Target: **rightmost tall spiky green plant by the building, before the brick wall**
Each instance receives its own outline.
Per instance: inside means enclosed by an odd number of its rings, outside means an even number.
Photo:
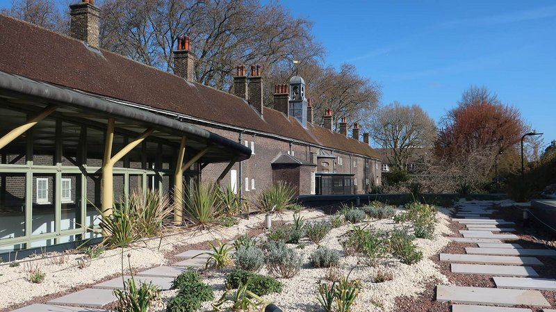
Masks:
[[[265,188],[256,194],[256,206],[259,210],[270,212],[285,211],[293,204],[295,188],[286,182],[279,181],[270,188]]]

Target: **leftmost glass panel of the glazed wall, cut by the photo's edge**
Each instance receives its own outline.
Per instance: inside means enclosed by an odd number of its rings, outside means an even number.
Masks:
[[[0,173],[0,239],[25,236],[25,189],[24,174]]]

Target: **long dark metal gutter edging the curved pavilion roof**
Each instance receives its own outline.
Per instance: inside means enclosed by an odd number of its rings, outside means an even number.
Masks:
[[[23,76],[8,74],[0,71],[0,90],[16,92],[23,95],[40,97],[49,101],[55,101],[62,106],[72,106],[96,111],[112,117],[123,117],[126,119],[155,124],[182,135],[186,134],[190,139],[197,142],[206,142],[207,145],[220,145],[229,149],[232,154],[240,156],[240,160],[250,158],[251,149],[238,144],[232,140],[219,136],[193,124],[181,122],[160,114],[152,113],[142,108],[130,105],[118,105],[117,101],[101,99],[79,90],[63,88],[50,83],[27,79]]]

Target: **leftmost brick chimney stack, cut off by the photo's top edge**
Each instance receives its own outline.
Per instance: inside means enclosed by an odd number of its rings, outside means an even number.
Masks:
[[[100,8],[95,0],[83,0],[70,6],[70,35],[83,40],[93,49],[99,49],[99,15]]]

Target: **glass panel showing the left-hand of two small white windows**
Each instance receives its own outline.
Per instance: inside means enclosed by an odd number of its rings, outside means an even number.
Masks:
[[[33,210],[31,217],[32,235],[51,233],[54,229],[56,194],[55,174],[33,174]],[[36,247],[32,245],[31,247]]]

